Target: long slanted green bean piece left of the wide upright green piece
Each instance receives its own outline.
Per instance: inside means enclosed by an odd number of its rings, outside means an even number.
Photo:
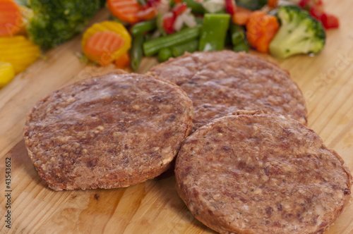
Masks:
[[[192,39],[196,39],[200,36],[200,26],[186,28],[180,32],[152,39],[148,42],[143,43],[143,53],[145,56],[151,56],[157,54],[160,49],[167,47],[174,47],[179,44],[184,44]]]

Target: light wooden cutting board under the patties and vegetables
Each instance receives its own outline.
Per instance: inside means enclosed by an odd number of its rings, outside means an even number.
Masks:
[[[321,54],[277,62],[289,70],[304,93],[309,128],[353,171],[353,1],[326,0],[325,4],[340,17],[341,25],[328,31]],[[93,21],[107,17],[103,10]],[[80,51],[77,37],[49,51],[46,59],[0,90],[0,233],[214,233],[193,218],[179,199],[172,171],[128,188],[64,192],[50,190],[37,175],[22,136],[28,111],[63,85],[114,69],[84,66],[76,56]],[[138,72],[156,63],[145,58]],[[5,226],[6,158],[11,158],[11,229]],[[326,233],[353,233],[353,204]]]

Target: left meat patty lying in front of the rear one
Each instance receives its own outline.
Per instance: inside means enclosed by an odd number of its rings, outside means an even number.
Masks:
[[[177,85],[109,73],[42,99],[25,123],[25,144],[54,190],[126,187],[167,170],[192,116]]]

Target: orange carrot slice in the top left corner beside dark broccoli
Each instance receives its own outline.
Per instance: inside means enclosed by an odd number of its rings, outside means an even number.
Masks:
[[[20,31],[22,16],[13,0],[0,0],[0,37],[13,36]]]

